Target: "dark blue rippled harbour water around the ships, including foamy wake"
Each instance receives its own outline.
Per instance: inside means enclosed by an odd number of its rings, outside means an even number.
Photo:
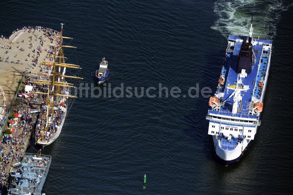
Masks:
[[[3,1],[0,34],[47,26],[73,37],[83,83],[105,56],[112,89],[177,86],[179,98],[78,98],[59,138],[46,147],[51,194],[292,193],[292,1]],[[227,35],[273,40],[258,136],[240,162],[214,160],[205,120],[208,99],[183,98],[190,87],[216,90]],[[69,50],[65,54],[70,55]],[[75,54],[74,54],[75,55]],[[103,90],[103,88],[102,88]],[[158,96],[158,90],[151,94]],[[34,148],[29,149],[35,152]],[[143,188],[143,176],[147,175]]]

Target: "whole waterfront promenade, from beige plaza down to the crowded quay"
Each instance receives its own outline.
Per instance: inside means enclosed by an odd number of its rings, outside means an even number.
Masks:
[[[26,76],[34,77],[39,76],[36,73],[40,71],[47,72],[49,67],[39,63],[53,60],[53,58],[46,57],[51,56],[54,51],[48,45],[55,45],[59,40],[56,37],[48,37],[48,30],[47,28],[24,28],[24,30],[16,31],[9,39],[1,38],[0,35],[0,85],[4,90],[7,104],[13,100],[18,80],[23,77],[24,72],[26,72]],[[52,35],[56,35],[54,30],[52,30]],[[42,78],[44,77],[42,76]],[[31,82],[30,84],[32,85]],[[6,182],[12,166],[20,162],[28,147],[30,135],[33,133],[31,126],[37,117],[36,114],[29,114],[28,111],[39,107],[41,101],[42,98],[36,100],[30,98],[29,101],[26,100],[11,110],[11,112],[22,114],[22,117],[16,119],[17,124],[13,127],[14,132],[10,135],[11,140],[1,141],[3,161],[0,163],[0,186],[8,187]],[[34,143],[31,144],[32,147],[35,147]]]

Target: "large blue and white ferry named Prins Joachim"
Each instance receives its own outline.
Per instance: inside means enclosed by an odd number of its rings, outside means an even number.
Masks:
[[[208,134],[224,165],[239,161],[260,126],[272,40],[253,37],[252,19],[249,37],[229,36],[217,91],[209,99]]]

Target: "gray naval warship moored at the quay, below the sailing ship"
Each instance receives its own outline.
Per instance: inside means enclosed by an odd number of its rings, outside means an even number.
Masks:
[[[11,171],[8,195],[44,195],[42,188],[49,172],[51,156],[25,153],[16,170]]]

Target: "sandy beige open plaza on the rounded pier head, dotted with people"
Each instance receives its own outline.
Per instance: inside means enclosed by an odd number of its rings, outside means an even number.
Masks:
[[[0,85],[5,92],[7,102],[11,102],[13,99],[15,87],[18,85],[18,79],[22,78],[23,72],[38,73],[40,71],[39,65],[32,65],[33,60],[37,57],[38,46],[42,49],[40,57],[38,57],[39,63],[44,61],[47,55],[46,51],[50,50],[48,45],[56,43],[55,39],[52,42],[49,40],[46,31],[46,28],[42,28],[42,30],[33,29],[29,32],[27,28],[16,31],[9,40],[0,37],[0,57],[2,60],[0,60]],[[32,38],[30,39],[30,37]],[[21,51],[21,48],[24,51]],[[33,52],[34,50],[35,52]],[[5,61],[7,57],[9,57],[8,62]]]

